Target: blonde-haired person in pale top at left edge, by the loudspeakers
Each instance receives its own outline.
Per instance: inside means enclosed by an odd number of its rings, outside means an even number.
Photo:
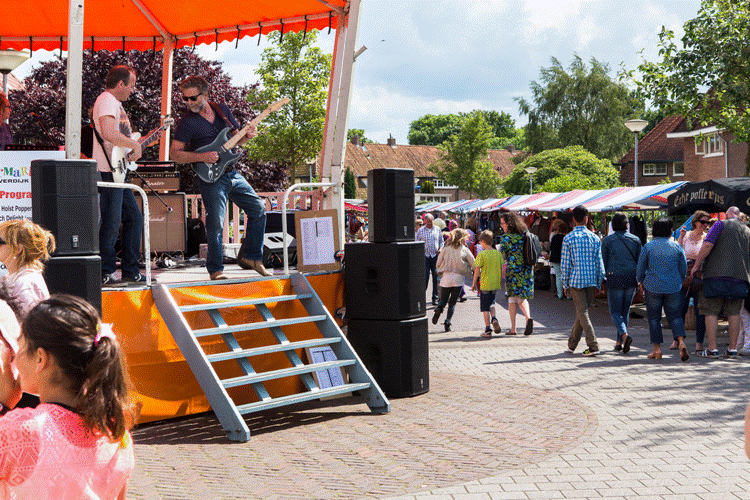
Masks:
[[[42,271],[43,261],[55,250],[55,237],[26,219],[0,222],[0,261],[8,274],[8,292],[17,301],[19,320],[38,302],[49,297]]]

